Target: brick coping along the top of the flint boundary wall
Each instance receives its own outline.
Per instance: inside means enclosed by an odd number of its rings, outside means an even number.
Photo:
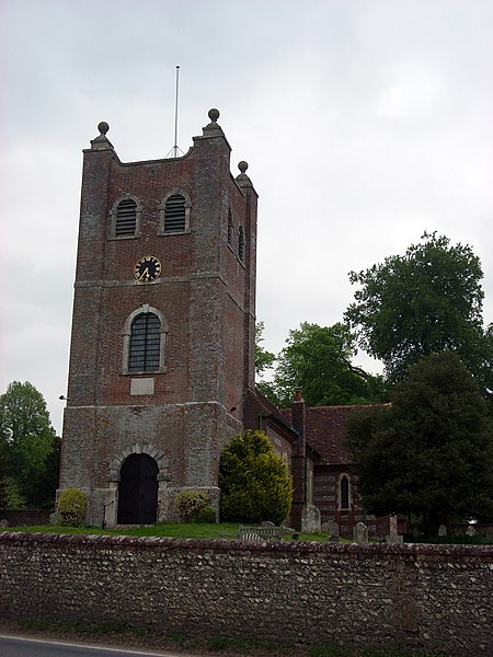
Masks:
[[[493,563],[493,545],[433,543],[322,543],[317,541],[239,541],[229,539],[171,539],[161,537],[128,537],[108,534],[56,534],[41,532],[0,532],[0,543],[43,544],[50,548],[84,546],[93,550],[183,550],[213,553],[262,554],[328,554],[356,558],[358,556],[398,555],[401,558],[426,557],[428,561],[463,561],[480,557]]]

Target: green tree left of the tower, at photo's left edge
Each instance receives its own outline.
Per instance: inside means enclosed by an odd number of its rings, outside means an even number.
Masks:
[[[0,436],[10,498],[31,507],[53,506],[59,440],[43,395],[28,381],[13,381],[0,395]]]

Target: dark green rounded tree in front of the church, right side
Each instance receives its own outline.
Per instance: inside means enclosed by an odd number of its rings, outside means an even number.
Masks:
[[[486,403],[456,354],[412,366],[391,405],[349,418],[347,442],[368,511],[414,514],[428,534],[456,518],[493,519]]]

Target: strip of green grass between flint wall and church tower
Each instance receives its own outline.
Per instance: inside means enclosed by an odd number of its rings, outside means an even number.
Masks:
[[[171,539],[234,539],[238,535],[238,522],[163,522],[152,527],[134,527],[121,529],[101,529],[99,527],[60,527],[42,525],[34,527],[9,527],[8,531],[68,533],[68,534],[104,534],[128,537],[162,537]],[[326,541],[326,534],[298,533],[300,541]],[[288,534],[284,540],[291,541]]]

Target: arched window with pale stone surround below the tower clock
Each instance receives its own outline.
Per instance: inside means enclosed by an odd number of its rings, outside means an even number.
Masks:
[[[144,303],[127,318],[123,330],[123,372],[165,372],[168,324],[162,313]]]

